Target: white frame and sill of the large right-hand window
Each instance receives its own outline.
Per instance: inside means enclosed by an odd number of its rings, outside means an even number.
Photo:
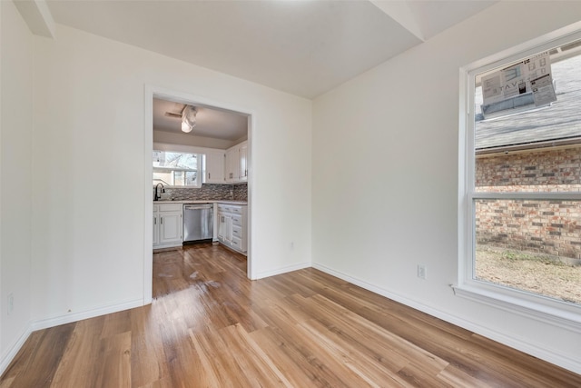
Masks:
[[[581,333],[581,306],[547,296],[527,293],[507,286],[475,279],[475,200],[477,199],[559,199],[579,200],[581,193],[478,193],[475,190],[474,131],[475,77],[515,63],[527,56],[581,39],[581,23],[569,25],[523,45],[460,68],[458,131],[458,284],[452,287],[459,297],[485,303],[528,318],[556,324]]]

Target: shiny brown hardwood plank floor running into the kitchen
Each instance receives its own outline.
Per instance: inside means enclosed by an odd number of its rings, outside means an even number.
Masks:
[[[315,269],[251,282],[212,244],[153,260],[151,305],[32,333],[0,387],[581,386]]]

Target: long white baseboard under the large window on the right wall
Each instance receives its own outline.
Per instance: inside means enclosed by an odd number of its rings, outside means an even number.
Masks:
[[[506,334],[498,333],[497,331],[490,330],[487,327],[479,325],[478,323],[473,323],[463,318],[459,318],[456,315],[450,315],[448,313],[434,309],[426,304],[419,303],[418,301],[399,295],[398,293],[393,293],[377,285],[369,284],[363,280],[357,279],[348,274],[343,274],[338,271],[335,271],[332,268],[327,267],[325,265],[313,263],[312,267],[326,274],[338,277],[351,284],[359,285],[359,287],[369,290],[372,293],[378,293],[379,295],[385,296],[386,298],[389,298],[393,301],[405,304],[411,308],[419,310],[422,313],[428,313],[429,315],[435,316],[438,319],[441,319],[448,323],[455,324],[472,333],[478,333],[493,341],[497,341],[498,343],[503,343],[507,346],[510,346],[511,348],[517,349],[520,352],[530,354],[534,357],[540,358],[541,360],[545,360],[547,361],[547,363],[554,363],[571,372],[581,374],[581,364],[579,364],[577,360],[566,357],[563,354],[558,354],[551,350],[539,347],[536,344],[527,343],[525,341],[518,340],[517,338],[507,336]]]

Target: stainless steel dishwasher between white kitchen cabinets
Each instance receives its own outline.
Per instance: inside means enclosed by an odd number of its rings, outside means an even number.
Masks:
[[[212,240],[213,232],[213,204],[183,205],[183,243]]]

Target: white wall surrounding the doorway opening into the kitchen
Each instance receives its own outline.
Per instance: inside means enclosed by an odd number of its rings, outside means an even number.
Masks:
[[[309,100],[62,25],[56,37],[35,38],[35,322],[143,303],[145,85],[253,114],[255,272],[310,265]]]

